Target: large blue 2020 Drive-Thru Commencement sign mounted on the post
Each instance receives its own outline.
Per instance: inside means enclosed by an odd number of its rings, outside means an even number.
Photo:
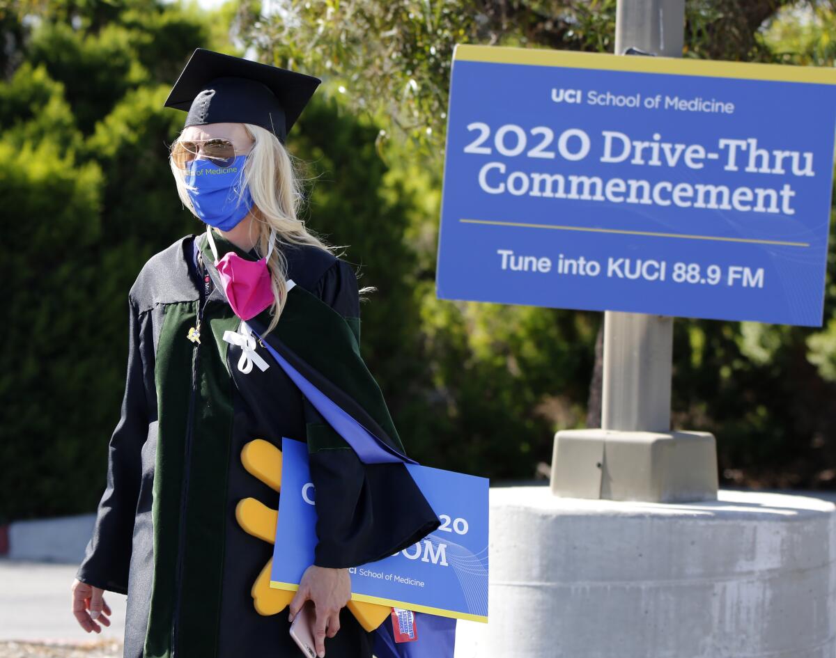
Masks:
[[[836,71],[458,45],[444,299],[820,326]]]

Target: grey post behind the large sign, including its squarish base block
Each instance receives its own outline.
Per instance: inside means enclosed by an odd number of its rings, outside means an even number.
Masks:
[[[681,57],[685,0],[619,0],[615,52]],[[601,428],[558,432],[552,491],[675,502],[717,497],[710,433],[670,432],[673,318],[604,313]]]

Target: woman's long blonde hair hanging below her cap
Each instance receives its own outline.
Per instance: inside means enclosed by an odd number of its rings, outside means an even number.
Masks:
[[[253,124],[242,125],[254,140],[254,144],[244,161],[245,185],[242,185],[239,190],[238,200],[241,201],[244,189],[248,187],[254,204],[251,226],[257,227],[255,248],[259,256],[268,253],[271,229],[276,230],[276,239],[279,244],[314,245],[329,253],[342,249],[344,245],[328,245],[320,240],[308,231],[303,220],[298,219],[303,202],[304,179],[300,175],[301,162],[291,155],[278,137],[268,129]],[[177,136],[174,144],[180,137],[181,135]],[[169,164],[176,181],[177,194],[180,195],[186,208],[195,213],[188,194],[185,171],[178,168],[171,158],[169,158]],[[270,306],[273,317],[265,335],[272,332],[278,324],[287,300],[288,261],[281,249],[273,249],[273,255],[268,260],[268,267],[273,282],[274,301]]]

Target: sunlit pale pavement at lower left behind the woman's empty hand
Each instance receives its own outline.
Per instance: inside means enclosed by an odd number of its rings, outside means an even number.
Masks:
[[[0,658],[110,658],[121,655],[125,633],[125,596],[107,592],[110,628],[85,633],[70,611],[75,564],[38,564],[0,559]],[[28,643],[89,645],[79,651]],[[92,644],[92,645],[91,645]]]

